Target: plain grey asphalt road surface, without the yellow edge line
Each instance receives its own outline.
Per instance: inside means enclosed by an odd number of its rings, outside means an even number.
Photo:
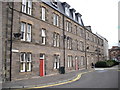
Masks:
[[[49,88],[118,88],[117,70],[96,70],[72,83]]]

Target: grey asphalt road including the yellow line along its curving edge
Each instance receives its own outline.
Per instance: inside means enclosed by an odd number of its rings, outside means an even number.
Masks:
[[[80,73],[78,74],[77,78],[73,79],[72,81],[63,82],[64,84],[58,83],[48,86],[37,86],[33,88],[23,88],[17,90],[40,90],[40,88],[109,88],[109,90],[111,90],[111,88],[119,87],[118,73],[120,74],[120,70],[117,68],[95,69],[90,72]],[[13,90],[13,88],[9,90]]]

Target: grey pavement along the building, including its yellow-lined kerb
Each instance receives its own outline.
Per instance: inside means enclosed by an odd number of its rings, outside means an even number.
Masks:
[[[81,77],[82,74],[94,71],[94,70],[104,70],[104,69],[116,69],[118,66],[111,68],[92,68],[92,69],[83,69],[78,71],[71,71],[65,74],[56,74],[52,76],[45,77],[36,77],[31,79],[16,80],[12,82],[3,83],[3,88],[33,88],[33,87],[47,87],[51,85],[60,85],[70,83]],[[80,75],[81,74],[81,75]]]

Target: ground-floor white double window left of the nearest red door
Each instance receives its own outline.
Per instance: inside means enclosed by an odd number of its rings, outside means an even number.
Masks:
[[[20,72],[31,71],[31,53],[20,54]]]

